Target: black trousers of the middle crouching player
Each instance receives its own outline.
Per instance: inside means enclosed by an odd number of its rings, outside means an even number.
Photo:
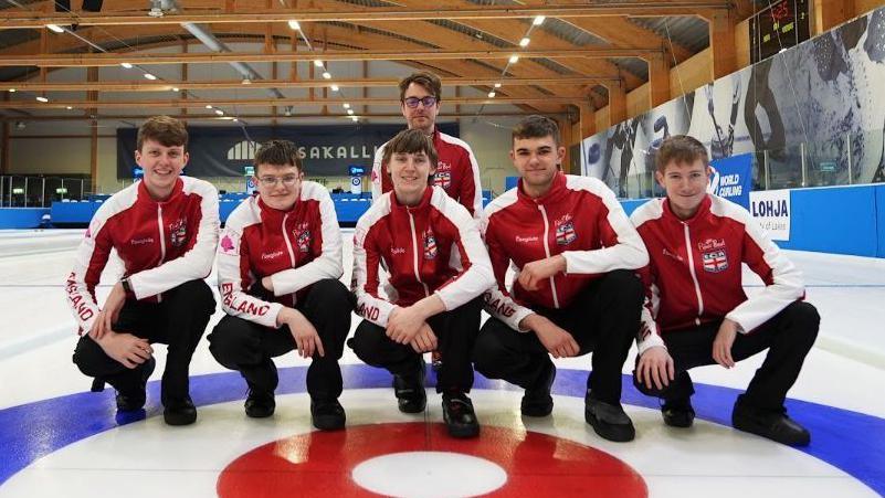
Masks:
[[[428,320],[436,335],[436,349],[445,359],[436,375],[436,392],[466,393],[473,388],[471,350],[480,331],[482,304],[482,298],[477,297]],[[394,375],[414,375],[421,365],[421,354],[409,345],[394,342],[384,332],[383,327],[362,320],[348,345],[367,364],[386,368]]]

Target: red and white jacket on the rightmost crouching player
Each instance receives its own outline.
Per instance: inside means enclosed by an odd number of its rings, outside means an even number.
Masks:
[[[651,261],[640,273],[646,287],[640,354],[663,346],[661,333],[716,321],[738,322],[747,333],[804,296],[802,275],[771,242],[750,213],[708,194],[697,213],[679,220],[666,199],[633,212]],[[749,299],[741,263],[766,287]]]

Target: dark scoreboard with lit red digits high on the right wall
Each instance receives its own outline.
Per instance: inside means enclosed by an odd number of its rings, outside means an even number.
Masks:
[[[750,19],[750,60],[768,59],[809,39],[809,0],[779,0]]]

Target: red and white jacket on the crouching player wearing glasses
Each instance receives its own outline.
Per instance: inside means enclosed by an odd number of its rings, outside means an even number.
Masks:
[[[228,315],[276,328],[283,307],[295,307],[307,288],[340,278],[341,233],[325,187],[302,183],[288,211],[268,208],[260,197],[245,199],[224,224],[218,246],[221,307]],[[270,276],[274,303],[250,296],[252,284]]]

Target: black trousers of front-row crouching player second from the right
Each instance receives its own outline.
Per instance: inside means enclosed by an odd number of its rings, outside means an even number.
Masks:
[[[534,308],[567,330],[580,347],[592,351],[592,372],[587,388],[604,402],[621,400],[621,369],[636,337],[642,310],[642,283],[633,272],[613,271],[591,282],[567,308]],[[504,379],[524,389],[540,386],[552,363],[534,332],[521,333],[491,318],[473,351],[476,371],[488,379]]]

